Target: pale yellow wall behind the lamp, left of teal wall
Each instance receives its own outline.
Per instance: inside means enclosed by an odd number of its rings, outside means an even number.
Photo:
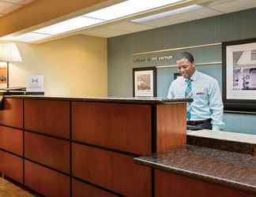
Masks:
[[[46,95],[107,95],[107,39],[74,35],[17,47],[23,61],[10,64],[10,87],[24,86],[26,76],[43,75]]]

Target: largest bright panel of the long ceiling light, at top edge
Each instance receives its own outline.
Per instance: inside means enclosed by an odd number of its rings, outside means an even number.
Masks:
[[[113,20],[182,1],[183,0],[128,0],[104,9],[98,9],[92,13],[87,13],[84,16],[101,20]]]

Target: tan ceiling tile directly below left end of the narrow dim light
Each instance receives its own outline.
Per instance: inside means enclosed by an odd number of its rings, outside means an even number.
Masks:
[[[108,28],[113,28],[116,30],[120,30],[122,32],[141,32],[141,31],[145,31],[145,30],[149,30],[152,29],[154,27],[149,26],[149,25],[145,25],[145,24],[136,24],[130,21],[124,21],[124,22],[119,22],[116,24],[111,24],[109,26],[107,26]]]

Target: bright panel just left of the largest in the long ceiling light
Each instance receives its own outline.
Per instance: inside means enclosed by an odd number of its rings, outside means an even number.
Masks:
[[[92,24],[99,24],[104,20],[93,19],[88,17],[75,17],[69,20],[64,20],[58,24],[52,24],[46,28],[40,28],[34,31],[35,33],[56,35],[63,32],[70,32],[78,28],[85,28]]]

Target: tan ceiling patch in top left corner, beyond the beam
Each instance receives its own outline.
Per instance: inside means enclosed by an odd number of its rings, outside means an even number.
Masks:
[[[16,9],[20,9],[22,6],[27,5],[35,0],[0,0],[0,17],[7,13],[12,13]]]

